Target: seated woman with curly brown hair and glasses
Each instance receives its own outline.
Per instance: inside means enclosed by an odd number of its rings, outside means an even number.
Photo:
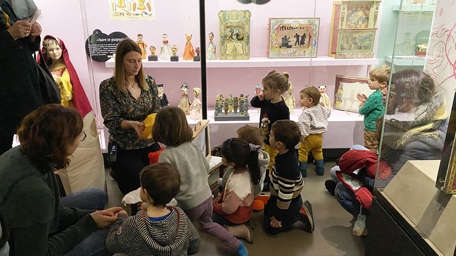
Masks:
[[[86,137],[82,129],[76,110],[44,105],[22,120],[21,145],[0,156],[0,211],[8,224],[10,255],[112,255],[103,228],[122,208],[103,210],[106,194],[98,188],[59,197],[54,170],[68,166]]]

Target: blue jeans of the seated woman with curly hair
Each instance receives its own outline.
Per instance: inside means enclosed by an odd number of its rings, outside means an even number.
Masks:
[[[103,210],[107,197],[103,190],[87,188],[67,195],[60,200],[60,204],[67,207],[75,207],[84,210]],[[64,256],[112,256],[106,249],[106,234],[108,228],[98,229],[88,235]]]

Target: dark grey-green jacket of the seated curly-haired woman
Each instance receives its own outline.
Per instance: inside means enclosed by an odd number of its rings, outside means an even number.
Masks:
[[[0,156],[0,180],[10,256],[61,256],[97,230],[93,210],[60,205],[54,169],[38,168],[21,146]]]

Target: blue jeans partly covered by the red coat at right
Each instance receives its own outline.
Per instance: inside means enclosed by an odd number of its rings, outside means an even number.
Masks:
[[[354,145],[350,150],[369,150],[361,145]],[[336,189],[334,190],[334,195],[336,196],[336,200],[351,215],[353,215],[353,220],[358,219],[359,209],[361,207],[361,203],[356,199],[355,193],[347,188],[342,182],[340,182],[339,178],[336,176],[336,171],[339,170],[339,166],[334,166],[331,171],[329,172],[331,179],[337,183]],[[367,215],[368,210],[362,209],[361,213],[363,215]]]

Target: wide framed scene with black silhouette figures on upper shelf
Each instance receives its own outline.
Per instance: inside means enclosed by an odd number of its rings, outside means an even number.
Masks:
[[[268,58],[316,57],[320,18],[269,18]]]

